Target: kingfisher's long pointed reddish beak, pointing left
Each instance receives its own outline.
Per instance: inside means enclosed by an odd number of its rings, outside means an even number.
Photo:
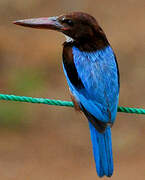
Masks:
[[[35,19],[24,19],[13,22],[16,25],[26,26],[37,29],[51,29],[51,30],[61,30],[63,26],[58,21],[58,17],[49,18],[35,18]]]

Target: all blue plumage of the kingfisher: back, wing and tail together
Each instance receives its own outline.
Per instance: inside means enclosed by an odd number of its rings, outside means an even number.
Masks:
[[[113,123],[119,98],[119,74],[115,55],[110,46],[94,52],[83,52],[72,47],[73,60],[84,88],[75,87],[64,73],[72,94],[78,103],[96,119]],[[95,120],[95,119],[94,119]],[[100,177],[113,173],[111,128],[100,133],[89,122],[96,170]]]

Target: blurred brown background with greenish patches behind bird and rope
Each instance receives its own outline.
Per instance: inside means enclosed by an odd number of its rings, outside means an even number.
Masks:
[[[70,100],[62,34],[12,24],[69,11],[92,14],[106,32],[120,68],[119,105],[145,108],[144,0],[0,0],[0,93]],[[112,134],[111,179],[145,179],[145,116],[118,113]],[[87,120],[73,108],[1,101],[0,179],[98,179]]]

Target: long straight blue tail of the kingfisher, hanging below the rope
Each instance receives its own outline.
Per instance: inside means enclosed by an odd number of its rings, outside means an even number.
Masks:
[[[111,177],[113,174],[111,128],[107,127],[104,133],[99,133],[91,122],[89,127],[97,174],[100,177],[104,175]]]

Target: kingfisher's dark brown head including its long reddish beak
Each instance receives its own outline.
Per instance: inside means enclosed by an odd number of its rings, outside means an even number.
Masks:
[[[73,41],[105,41],[106,36],[98,25],[96,19],[83,12],[72,12],[65,15],[45,18],[24,19],[15,21],[14,24],[62,32]]]

